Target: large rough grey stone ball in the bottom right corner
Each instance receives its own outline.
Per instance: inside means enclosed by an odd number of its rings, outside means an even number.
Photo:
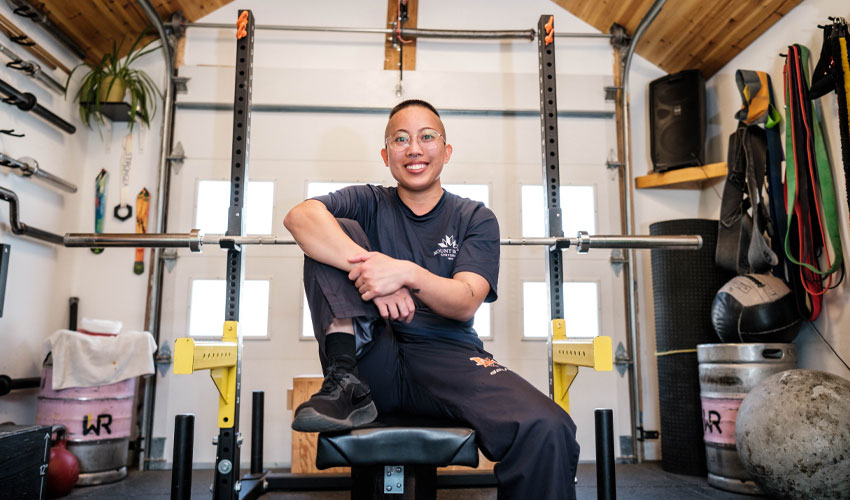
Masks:
[[[741,403],[735,444],[772,497],[850,498],[850,382],[813,370],[771,375]]]

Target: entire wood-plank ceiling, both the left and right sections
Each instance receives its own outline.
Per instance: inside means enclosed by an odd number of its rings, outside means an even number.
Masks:
[[[111,51],[113,41],[126,40],[121,51],[122,55],[126,54],[148,25],[136,0],[24,1],[46,14],[82,47],[90,63]],[[193,22],[231,1],[151,0],[151,3],[164,20],[180,11]],[[631,34],[654,0],[552,1],[603,33],[619,23]],[[800,1],[671,0],[644,33],[637,53],[668,73],[699,69],[708,78]],[[24,31],[37,29],[23,18],[15,19]],[[150,38],[154,39],[155,34]]]

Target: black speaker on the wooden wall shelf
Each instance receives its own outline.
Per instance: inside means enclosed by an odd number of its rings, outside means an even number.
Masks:
[[[655,172],[705,164],[705,79],[699,70],[650,82],[649,130]]]

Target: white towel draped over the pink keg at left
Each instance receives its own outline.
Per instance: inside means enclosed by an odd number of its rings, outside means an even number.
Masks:
[[[156,343],[149,332],[107,337],[57,330],[47,342],[54,389],[107,385],[154,372]]]

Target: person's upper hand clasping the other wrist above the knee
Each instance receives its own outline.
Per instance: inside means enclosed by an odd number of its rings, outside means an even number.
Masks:
[[[348,258],[356,264],[348,273],[348,279],[360,292],[365,301],[395,293],[404,287],[410,262],[393,259],[380,252],[366,252]]]

